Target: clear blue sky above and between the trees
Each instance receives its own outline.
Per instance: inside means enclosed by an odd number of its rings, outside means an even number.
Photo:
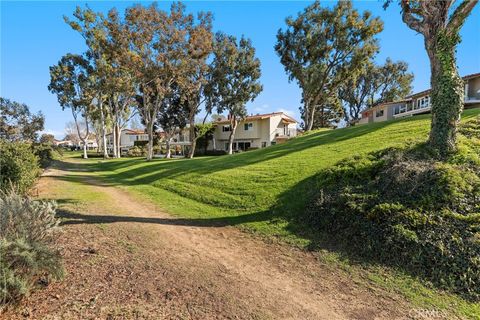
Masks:
[[[46,117],[45,131],[63,137],[65,123],[72,120],[68,110],[62,111],[56,97],[48,89],[48,67],[62,55],[85,50],[83,39],[63,21],[71,16],[75,6],[86,3],[106,12],[112,7],[123,11],[137,2],[23,2],[1,1],[1,57],[0,95],[28,104],[32,110],[41,110]],[[147,5],[148,2],[142,2]],[[299,119],[300,90],[288,77],[279,62],[273,46],[279,28],[284,28],[287,16],[296,15],[311,2],[303,1],[245,1],[203,2],[186,1],[187,10],[211,11],[214,30],[252,39],[257,56],[262,62],[264,90],[248,105],[251,113],[287,111]],[[361,1],[354,5],[359,10],[370,10],[384,21],[379,35],[381,52],[377,57],[383,63],[387,57],[408,62],[415,74],[414,91],[429,87],[429,62],[423,46],[423,37],[410,30],[401,20],[400,9],[392,5],[386,11],[382,1]],[[322,2],[332,6],[334,2]],[[160,2],[168,9],[170,2]],[[458,46],[457,62],[461,75],[480,72],[480,6],[476,6],[462,29],[462,43]]]

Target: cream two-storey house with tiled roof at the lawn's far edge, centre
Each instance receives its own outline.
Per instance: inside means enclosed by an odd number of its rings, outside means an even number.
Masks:
[[[213,143],[210,149],[228,150],[230,136],[230,121],[219,119],[216,126]],[[251,115],[240,121],[235,131],[233,150],[248,150],[250,148],[265,148],[282,143],[297,135],[297,121],[283,112]]]

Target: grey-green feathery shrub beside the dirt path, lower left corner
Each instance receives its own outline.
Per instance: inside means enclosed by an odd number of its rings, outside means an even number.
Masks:
[[[0,194],[0,303],[27,295],[39,277],[63,277],[60,254],[51,247],[57,226],[54,203]]]

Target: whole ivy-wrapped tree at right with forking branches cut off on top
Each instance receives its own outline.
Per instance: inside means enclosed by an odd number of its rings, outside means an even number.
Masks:
[[[391,2],[388,0],[386,6]],[[460,29],[478,0],[401,0],[402,20],[424,36],[430,59],[432,125],[430,145],[445,154],[457,148],[457,125],[464,104],[464,83],[458,74],[456,47]]]

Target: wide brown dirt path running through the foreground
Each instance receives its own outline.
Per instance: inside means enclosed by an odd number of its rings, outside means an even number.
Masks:
[[[81,188],[98,197],[84,204],[68,174],[51,169],[39,186],[64,210],[67,277],[5,319],[407,318],[402,299],[357,284],[310,253],[172,218],[88,176]]]

